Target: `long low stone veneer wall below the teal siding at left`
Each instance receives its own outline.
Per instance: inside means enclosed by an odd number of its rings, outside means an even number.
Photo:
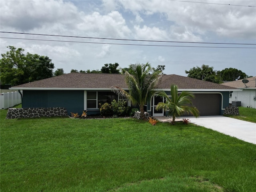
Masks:
[[[52,108],[9,108],[6,119],[68,116],[63,107]]]

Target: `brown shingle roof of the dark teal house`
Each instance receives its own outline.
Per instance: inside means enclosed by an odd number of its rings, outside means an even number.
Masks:
[[[170,89],[171,84],[179,89],[234,90],[233,87],[197,80],[179,75],[163,75],[158,89]],[[118,86],[127,89],[123,74],[69,73],[12,87],[12,89],[109,89]]]

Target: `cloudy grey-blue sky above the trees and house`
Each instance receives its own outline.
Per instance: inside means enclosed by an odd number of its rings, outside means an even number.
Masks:
[[[165,65],[165,74],[187,76],[185,70],[205,64],[256,76],[255,0],[1,0],[0,31],[1,54],[6,46],[24,48],[48,56],[54,70],[65,73],[149,62]]]

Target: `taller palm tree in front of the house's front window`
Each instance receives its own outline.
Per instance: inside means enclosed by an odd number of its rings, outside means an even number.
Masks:
[[[149,63],[132,64],[130,65],[129,72],[125,72],[125,80],[129,92],[116,86],[112,87],[112,91],[129,99],[133,105],[138,104],[140,108],[140,118],[145,119],[144,104],[146,104],[156,92],[154,87],[162,77],[159,74],[159,71],[152,70]]]

